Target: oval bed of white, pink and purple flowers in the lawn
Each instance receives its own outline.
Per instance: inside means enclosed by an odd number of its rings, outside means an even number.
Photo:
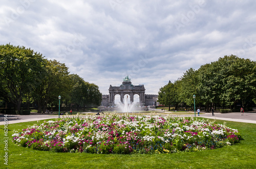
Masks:
[[[175,153],[238,143],[240,133],[225,125],[171,116],[66,117],[15,131],[22,147],[54,152]]]

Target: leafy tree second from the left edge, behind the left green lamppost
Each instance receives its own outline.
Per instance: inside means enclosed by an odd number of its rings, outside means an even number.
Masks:
[[[38,113],[45,112],[48,103],[58,104],[59,95],[61,100],[68,98],[71,91],[68,67],[65,64],[47,60],[44,68],[32,94],[38,105]]]

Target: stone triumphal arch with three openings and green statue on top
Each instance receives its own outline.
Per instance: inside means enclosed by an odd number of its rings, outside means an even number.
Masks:
[[[145,88],[144,85],[134,86],[132,85],[131,79],[127,75],[119,87],[110,85],[109,88],[109,103],[115,103],[115,95],[120,95],[120,101],[123,103],[124,95],[130,95],[130,101],[134,101],[134,95],[139,95],[140,105],[145,105]]]

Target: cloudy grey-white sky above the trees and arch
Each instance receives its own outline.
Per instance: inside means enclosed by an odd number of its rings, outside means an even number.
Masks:
[[[99,86],[129,75],[146,94],[224,55],[256,60],[256,3],[1,0],[0,44],[25,46]]]

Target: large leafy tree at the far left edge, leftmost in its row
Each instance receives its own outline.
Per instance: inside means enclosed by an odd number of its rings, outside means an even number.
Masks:
[[[30,48],[0,46],[0,93],[16,110],[20,110],[25,93],[35,85],[43,61],[44,57]]]

